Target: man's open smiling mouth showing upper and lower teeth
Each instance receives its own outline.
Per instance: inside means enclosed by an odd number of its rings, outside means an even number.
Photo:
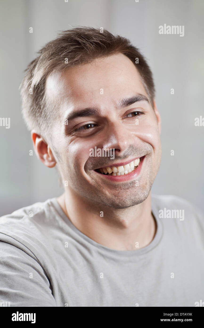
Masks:
[[[106,177],[115,176],[119,178],[119,176],[123,175],[123,178],[127,180],[130,176],[133,177],[139,174],[144,157],[136,158],[129,163],[125,163],[125,165],[107,166],[94,171]]]

